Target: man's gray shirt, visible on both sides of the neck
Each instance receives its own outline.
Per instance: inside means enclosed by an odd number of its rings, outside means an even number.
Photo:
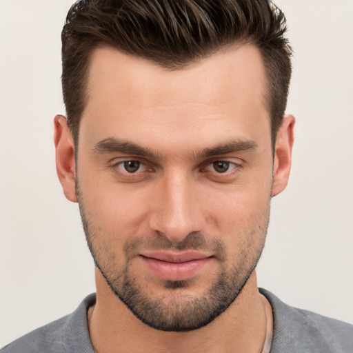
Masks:
[[[274,314],[271,353],[353,353],[353,325],[296,309],[274,294],[260,290]],[[94,353],[87,326],[90,294],[68,316],[40,327],[10,343],[1,353]]]

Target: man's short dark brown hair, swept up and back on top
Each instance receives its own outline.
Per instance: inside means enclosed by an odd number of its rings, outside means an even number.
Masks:
[[[292,73],[285,31],[284,14],[270,0],[77,1],[61,34],[63,99],[75,143],[93,50],[116,48],[179,70],[239,42],[253,44],[262,54],[274,146]]]

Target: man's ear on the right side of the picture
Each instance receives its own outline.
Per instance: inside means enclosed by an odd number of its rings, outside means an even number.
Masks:
[[[276,147],[274,150],[272,196],[285,190],[290,177],[292,164],[292,148],[294,143],[294,123],[292,115],[285,115],[277,132]]]

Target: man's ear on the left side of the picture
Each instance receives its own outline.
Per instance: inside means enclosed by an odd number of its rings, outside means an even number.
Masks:
[[[54,117],[54,144],[57,174],[66,199],[77,202],[75,191],[74,141],[65,117]]]

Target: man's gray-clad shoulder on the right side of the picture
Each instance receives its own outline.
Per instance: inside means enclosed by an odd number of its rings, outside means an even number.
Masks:
[[[271,352],[353,352],[353,325],[291,307],[268,291],[261,293],[270,301],[274,314]]]

